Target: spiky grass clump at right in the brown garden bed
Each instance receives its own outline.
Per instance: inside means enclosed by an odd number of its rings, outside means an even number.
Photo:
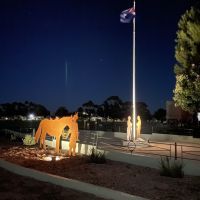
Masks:
[[[178,161],[171,162],[168,157],[166,157],[165,159],[161,158],[160,175],[169,176],[173,178],[183,178],[183,163]]]

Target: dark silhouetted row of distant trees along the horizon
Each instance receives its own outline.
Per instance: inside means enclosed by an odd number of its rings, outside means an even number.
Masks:
[[[148,106],[144,102],[136,103],[137,115],[140,115],[142,120],[151,120],[155,118],[157,120],[164,121],[166,117],[166,111],[163,108],[158,109],[154,114],[148,109]],[[90,117],[103,117],[110,119],[125,119],[129,115],[132,115],[132,102],[123,102],[118,96],[108,97],[101,105],[97,105],[89,100],[83,103],[75,112],[79,113],[80,118]],[[70,115],[71,113],[65,106],[60,106],[55,113],[50,111],[41,104],[25,101],[0,104],[0,117],[14,117],[14,116],[28,116],[30,113],[34,113],[37,116],[44,117],[62,117]]]

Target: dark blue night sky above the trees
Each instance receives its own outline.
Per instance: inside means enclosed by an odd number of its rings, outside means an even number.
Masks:
[[[151,112],[171,100],[180,16],[197,0],[136,1],[136,98]],[[76,110],[132,95],[131,0],[1,0],[0,103]],[[67,70],[66,70],[67,65]]]

